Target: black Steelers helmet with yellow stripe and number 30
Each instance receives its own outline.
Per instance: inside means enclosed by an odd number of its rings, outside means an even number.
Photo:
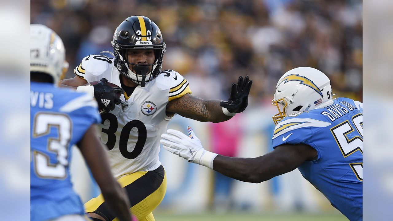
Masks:
[[[165,52],[165,42],[158,26],[144,16],[131,16],[121,22],[113,35],[114,64],[119,72],[130,78],[141,87],[145,82],[158,76],[162,68],[162,57]],[[152,64],[134,64],[128,61],[127,50],[152,49],[155,59]],[[136,73],[129,68],[135,65]],[[152,66],[149,72],[149,66]]]

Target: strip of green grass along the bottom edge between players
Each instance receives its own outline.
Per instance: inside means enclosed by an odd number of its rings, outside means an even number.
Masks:
[[[154,213],[156,221],[348,221],[342,214],[164,214]]]

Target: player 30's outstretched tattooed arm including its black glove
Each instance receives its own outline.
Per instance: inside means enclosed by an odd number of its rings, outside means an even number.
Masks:
[[[246,109],[248,105],[248,94],[252,81],[246,76],[239,77],[237,84],[232,84],[231,94],[228,101],[204,100],[190,94],[169,101],[166,107],[168,115],[180,114],[186,118],[191,118],[201,122],[210,121],[213,123],[229,120],[236,113]]]

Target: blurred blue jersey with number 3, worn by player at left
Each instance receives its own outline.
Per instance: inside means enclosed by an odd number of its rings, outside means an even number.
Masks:
[[[101,121],[97,102],[88,94],[31,83],[31,221],[84,214],[69,171],[71,147]]]

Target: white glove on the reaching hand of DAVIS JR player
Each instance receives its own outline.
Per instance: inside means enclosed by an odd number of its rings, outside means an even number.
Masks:
[[[187,127],[189,136],[180,131],[168,129],[161,135],[160,143],[167,151],[193,162],[213,169],[213,160],[217,153],[206,151],[191,127]]]

